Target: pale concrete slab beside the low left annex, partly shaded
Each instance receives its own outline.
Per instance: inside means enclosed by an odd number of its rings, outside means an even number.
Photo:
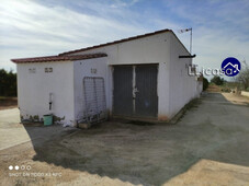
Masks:
[[[42,126],[41,124],[22,125],[20,124],[18,108],[0,111],[0,150],[29,141],[42,143],[53,137],[60,136],[64,132],[72,132],[75,130],[77,129],[63,128],[60,125],[53,125],[49,127]]]

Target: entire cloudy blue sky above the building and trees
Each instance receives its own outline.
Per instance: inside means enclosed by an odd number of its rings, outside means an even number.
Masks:
[[[249,60],[248,0],[1,0],[0,68],[11,58],[58,53],[171,28],[194,63],[219,68],[227,57]]]

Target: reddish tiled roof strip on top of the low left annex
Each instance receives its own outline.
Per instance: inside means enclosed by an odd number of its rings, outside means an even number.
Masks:
[[[34,58],[19,58],[11,59],[11,61],[15,63],[26,63],[26,62],[50,62],[50,61],[73,61],[73,60],[82,60],[82,59],[91,59],[91,58],[101,58],[106,57],[106,54],[98,53],[98,54],[88,54],[88,55],[73,55],[73,56],[44,56],[44,57],[34,57]]]

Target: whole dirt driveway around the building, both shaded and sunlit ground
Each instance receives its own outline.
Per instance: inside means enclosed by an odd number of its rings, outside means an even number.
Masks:
[[[204,94],[176,125],[24,128],[31,142],[0,151],[2,185],[249,185],[245,97]]]

